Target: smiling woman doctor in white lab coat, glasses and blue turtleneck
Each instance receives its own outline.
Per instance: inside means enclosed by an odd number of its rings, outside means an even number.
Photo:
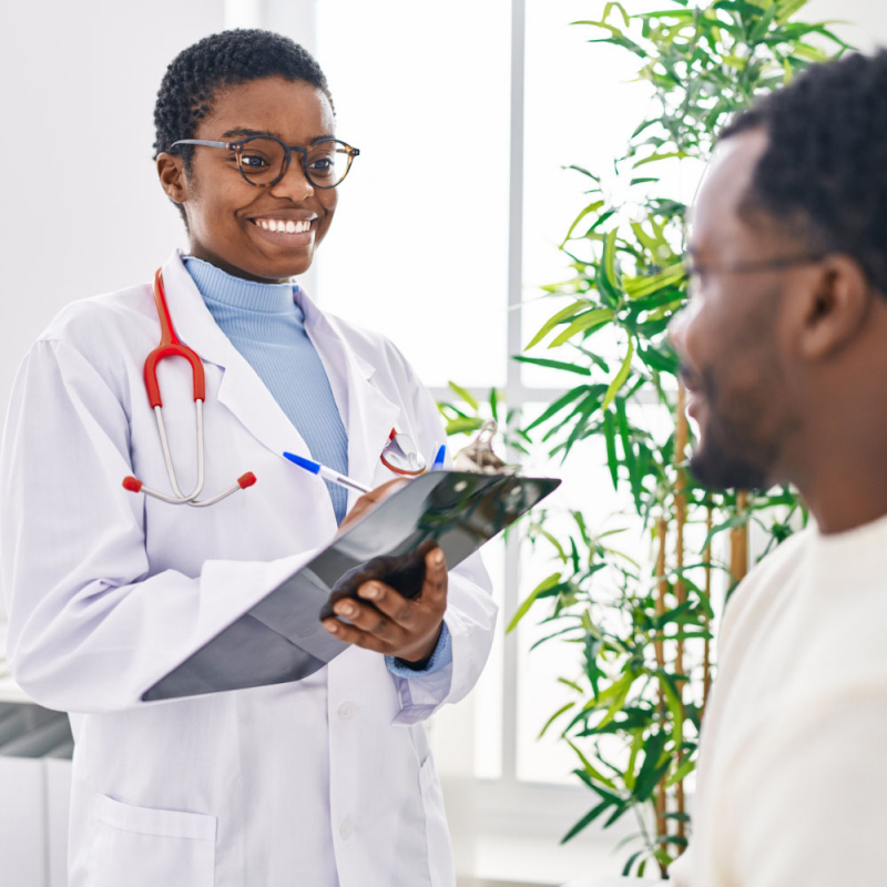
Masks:
[[[17,680],[71,713],[71,887],[451,887],[421,722],[486,661],[495,606],[478,561],[447,577],[430,552],[415,603],[361,587],[367,603],[339,610],[353,625],[325,623],[353,645],[306,680],[140,702],[328,543],[349,504],[376,498],[346,500],[284,450],[380,487],[396,477],[380,459],[391,429],[422,453],[443,439],[399,351],[290,282],[357,153],[333,143],[314,59],[268,32],[210,37],[170,65],[155,123],[160,181],[191,246],[161,283],[205,367],[200,498],[245,472],[257,482],[205,508],[121,485],[132,475],[179,498],[143,374],[161,337],[150,284],[70,305],[26,356],[2,445],[2,582]],[[375,161],[394,192],[410,161],[398,141]],[[385,236],[389,210],[367,236]],[[364,277],[355,268],[355,285]],[[185,498],[197,485],[192,368],[166,359],[157,377]]]

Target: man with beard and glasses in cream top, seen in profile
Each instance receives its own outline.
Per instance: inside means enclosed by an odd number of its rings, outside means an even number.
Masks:
[[[887,52],[738,116],[672,336],[711,488],[791,482],[812,526],[720,634],[682,887],[887,885]]]

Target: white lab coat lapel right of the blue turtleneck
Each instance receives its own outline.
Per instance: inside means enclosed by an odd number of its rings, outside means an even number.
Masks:
[[[375,367],[348,346],[336,318],[320,312],[302,290],[296,299],[305,312],[305,329],[324,361],[336,400],[340,409],[347,405],[343,420],[348,429],[348,473],[374,486],[379,457],[398,425],[400,407],[373,383]],[[350,495],[349,502],[356,498]]]

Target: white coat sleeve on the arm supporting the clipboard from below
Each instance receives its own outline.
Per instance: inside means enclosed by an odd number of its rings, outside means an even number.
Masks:
[[[422,429],[421,451],[430,452],[435,441],[446,440],[447,434],[430,391],[419,383],[408,365],[407,371],[417,426]],[[447,459],[448,466],[451,465],[449,453]],[[498,608],[491,592],[490,579],[479,553],[450,571],[445,622],[450,633],[452,661],[431,674],[419,673],[409,679],[391,675],[400,694],[400,712],[395,724],[425,721],[441,705],[465,699],[475,686],[490,654],[496,630]]]

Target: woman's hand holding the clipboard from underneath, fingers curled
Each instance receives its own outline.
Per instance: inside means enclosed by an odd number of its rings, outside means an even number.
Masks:
[[[376,492],[367,493],[360,501]],[[447,559],[434,543],[424,548],[425,581],[416,598],[404,598],[390,585],[371,579],[357,589],[358,597],[369,603],[343,598],[333,605],[336,615],[351,624],[330,618],[324,620],[324,628],[345,643],[397,656],[417,670],[422,669],[437,648],[447,610]]]

